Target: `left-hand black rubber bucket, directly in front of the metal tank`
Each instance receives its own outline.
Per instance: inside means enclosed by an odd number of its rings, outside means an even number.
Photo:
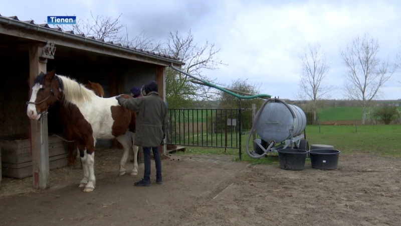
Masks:
[[[308,151],[299,149],[280,149],[280,168],[286,170],[303,170],[305,167],[306,153]]]

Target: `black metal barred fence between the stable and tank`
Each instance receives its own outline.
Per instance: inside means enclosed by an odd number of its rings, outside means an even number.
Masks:
[[[167,144],[241,152],[241,109],[168,109],[168,114]]]

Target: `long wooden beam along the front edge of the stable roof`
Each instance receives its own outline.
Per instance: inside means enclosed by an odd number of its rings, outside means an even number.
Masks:
[[[151,64],[157,64],[157,65],[164,65],[164,66],[169,66],[171,63],[166,62],[163,60],[158,60],[158,59],[153,59],[150,57],[146,56],[140,56],[140,55],[135,55],[135,53],[127,53],[123,52],[121,50],[113,50],[110,48],[105,48],[105,47],[99,47],[95,44],[89,43],[89,42],[84,42],[84,41],[75,41],[70,38],[62,38],[57,35],[52,35],[52,34],[45,34],[42,32],[38,32],[35,30],[30,30],[30,31],[25,31],[23,29],[18,29],[14,27],[3,27],[0,26],[0,34],[5,34],[5,35],[11,35],[15,37],[20,37],[24,39],[30,39],[34,41],[40,41],[40,42],[54,42],[55,46],[65,46],[73,49],[79,49],[79,50],[85,50],[93,53],[98,53],[102,55],[107,55],[107,56],[113,56],[113,57],[118,57],[118,58],[125,58],[129,60],[135,60],[135,61],[140,61],[140,62],[146,62],[146,63],[151,63]],[[68,36],[68,35],[66,35]],[[174,66],[177,67],[178,64],[174,63]]]

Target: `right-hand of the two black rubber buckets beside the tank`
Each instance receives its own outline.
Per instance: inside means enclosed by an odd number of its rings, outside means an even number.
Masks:
[[[314,149],[309,151],[310,164],[315,169],[337,169],[340,151],[333,149]]]

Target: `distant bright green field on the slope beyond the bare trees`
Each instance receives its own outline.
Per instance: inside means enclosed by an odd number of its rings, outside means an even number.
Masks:
[[[401,109],[401,107],[399,107]],[[320,121],[361,120],[362,107],[325,107],[319,112]]]

